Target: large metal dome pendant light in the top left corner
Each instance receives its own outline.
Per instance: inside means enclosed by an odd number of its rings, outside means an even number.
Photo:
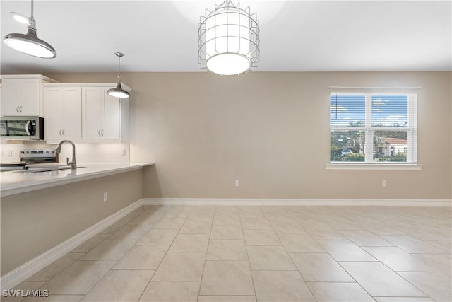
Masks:
[[[30,54],[30,56],[52,59],[57,57],[57,51],[49,43],[37,37],[36,21],[33,17],[33,0],[31,0],[31,16],[28,18],[21,13],[11,13],[13,18],[20,23],[28,24],[28,32],[24,35],[21,33],[10,33],[4,37],[6,45],[13,50]]]

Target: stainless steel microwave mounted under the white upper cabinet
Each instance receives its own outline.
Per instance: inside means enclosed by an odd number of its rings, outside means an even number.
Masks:
[[[44,117],[0,117],[1,139],[44,139]]]

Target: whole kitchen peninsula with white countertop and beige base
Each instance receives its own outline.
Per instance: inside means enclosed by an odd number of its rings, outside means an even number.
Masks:
[[[81,167],[1,173],[4,284],[16,284],[138,207],[143,168],[153,168],[153,163]]]

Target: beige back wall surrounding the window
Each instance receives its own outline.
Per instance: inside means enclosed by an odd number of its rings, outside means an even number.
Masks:
[[[109,82],[115,74],[46,74]],[[144,197],[451,199],[450,72],[122,74]],[[420,86],[414,171],[326,170],[328,86]],[[234,180],[241,186],[234,187]],[[387,180],[388,187],[381,187]]]

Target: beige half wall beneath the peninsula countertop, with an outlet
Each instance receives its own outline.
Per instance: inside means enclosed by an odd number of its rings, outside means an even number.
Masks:
[[[141,199],[142,185],[135,170],[2,197],[1,275]]]

